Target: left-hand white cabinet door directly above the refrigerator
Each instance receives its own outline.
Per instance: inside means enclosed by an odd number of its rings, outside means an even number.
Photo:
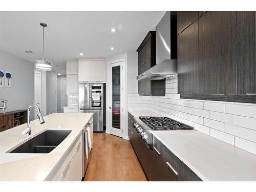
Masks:
[[[78,61],[78,81],[92,81],[92,61]]]

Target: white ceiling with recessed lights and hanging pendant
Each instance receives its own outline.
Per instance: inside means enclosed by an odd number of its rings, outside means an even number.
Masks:
[[[66,60],[136,50],[147,32],[155,30],[163,14],[164,11],[1,11],[0,49],[31,62],[42,58],[39,23],[47,23],[45,56],[53,62],[55,72],[65,74]],[[113,27],[116,33],[110,31]],[[111,51],[111,47],[115,50]]]

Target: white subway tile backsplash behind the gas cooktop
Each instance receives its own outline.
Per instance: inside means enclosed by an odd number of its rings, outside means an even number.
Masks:
[[[180,99],[178,79],[166,80],[165,97],[128,94],[128,108],[151,110],[256,154],[256,104]]]

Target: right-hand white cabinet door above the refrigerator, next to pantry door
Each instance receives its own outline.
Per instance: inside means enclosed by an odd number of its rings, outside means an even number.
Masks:
[[[105,82],[105,61],[92,61],[92,81]]]

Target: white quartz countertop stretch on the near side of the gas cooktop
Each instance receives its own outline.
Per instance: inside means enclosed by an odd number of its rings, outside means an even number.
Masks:
[[[198,131],[153,131],[203,181],[256,181],[256,155]]]

